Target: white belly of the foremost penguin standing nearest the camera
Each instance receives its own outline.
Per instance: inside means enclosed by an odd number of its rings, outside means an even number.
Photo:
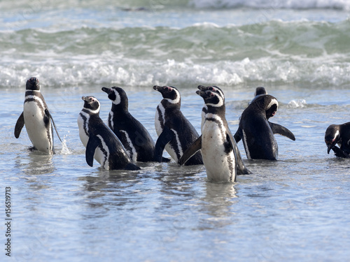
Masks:
[[[235,154],[225,153],[225,133],[216,122],[204,122],[202,157],[209,180],[235,181]]]

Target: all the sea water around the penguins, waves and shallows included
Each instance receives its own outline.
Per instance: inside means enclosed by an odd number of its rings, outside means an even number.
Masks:
[[[325,129],[349,122],[348,1],[0,1],[1,261],[346,261],[350,162],[327,154]],[[13,135],[25,82],[41,83],[63,140],[31,152]],[[197,85],[225,92],[232,133],[255,87],[279,101],[271,122],[279,161],[248,161],[235,183],[207,181],[204,166],[87,166],[76,119],[81,96],[111,101],[123,87],[130,112],[154,140],[153,85],[181,92],[200,133]],[[165,156],[169,157],[165,152]],[[5,246],[5,245],[3,245]]]

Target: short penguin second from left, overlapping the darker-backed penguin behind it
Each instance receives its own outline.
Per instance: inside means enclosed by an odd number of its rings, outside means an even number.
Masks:
[[[106,170],[139,170],[117,136],[99,117],[100,103],[94,96],[82,96],[83,110],[78,115],[81,143],[86,147],[85,159],[93,166],[94,159]]]

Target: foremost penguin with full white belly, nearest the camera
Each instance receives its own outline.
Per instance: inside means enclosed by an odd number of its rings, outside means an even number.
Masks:
[[[180,164],[186,163],[196,150],[202,149],[207,178],[214,182],[235,182],[237,180],[237,147],[225,118],[225,99],[217,87],[199,86],[196,93],[205,103],[202,136],[183,153]],[[203,112],[203,110],[202,110]]]

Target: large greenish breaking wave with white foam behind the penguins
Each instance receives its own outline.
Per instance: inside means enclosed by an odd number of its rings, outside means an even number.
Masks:
[[[350,23],[23,29],[0,35],[0,87],[46,85],[350,85]]]

